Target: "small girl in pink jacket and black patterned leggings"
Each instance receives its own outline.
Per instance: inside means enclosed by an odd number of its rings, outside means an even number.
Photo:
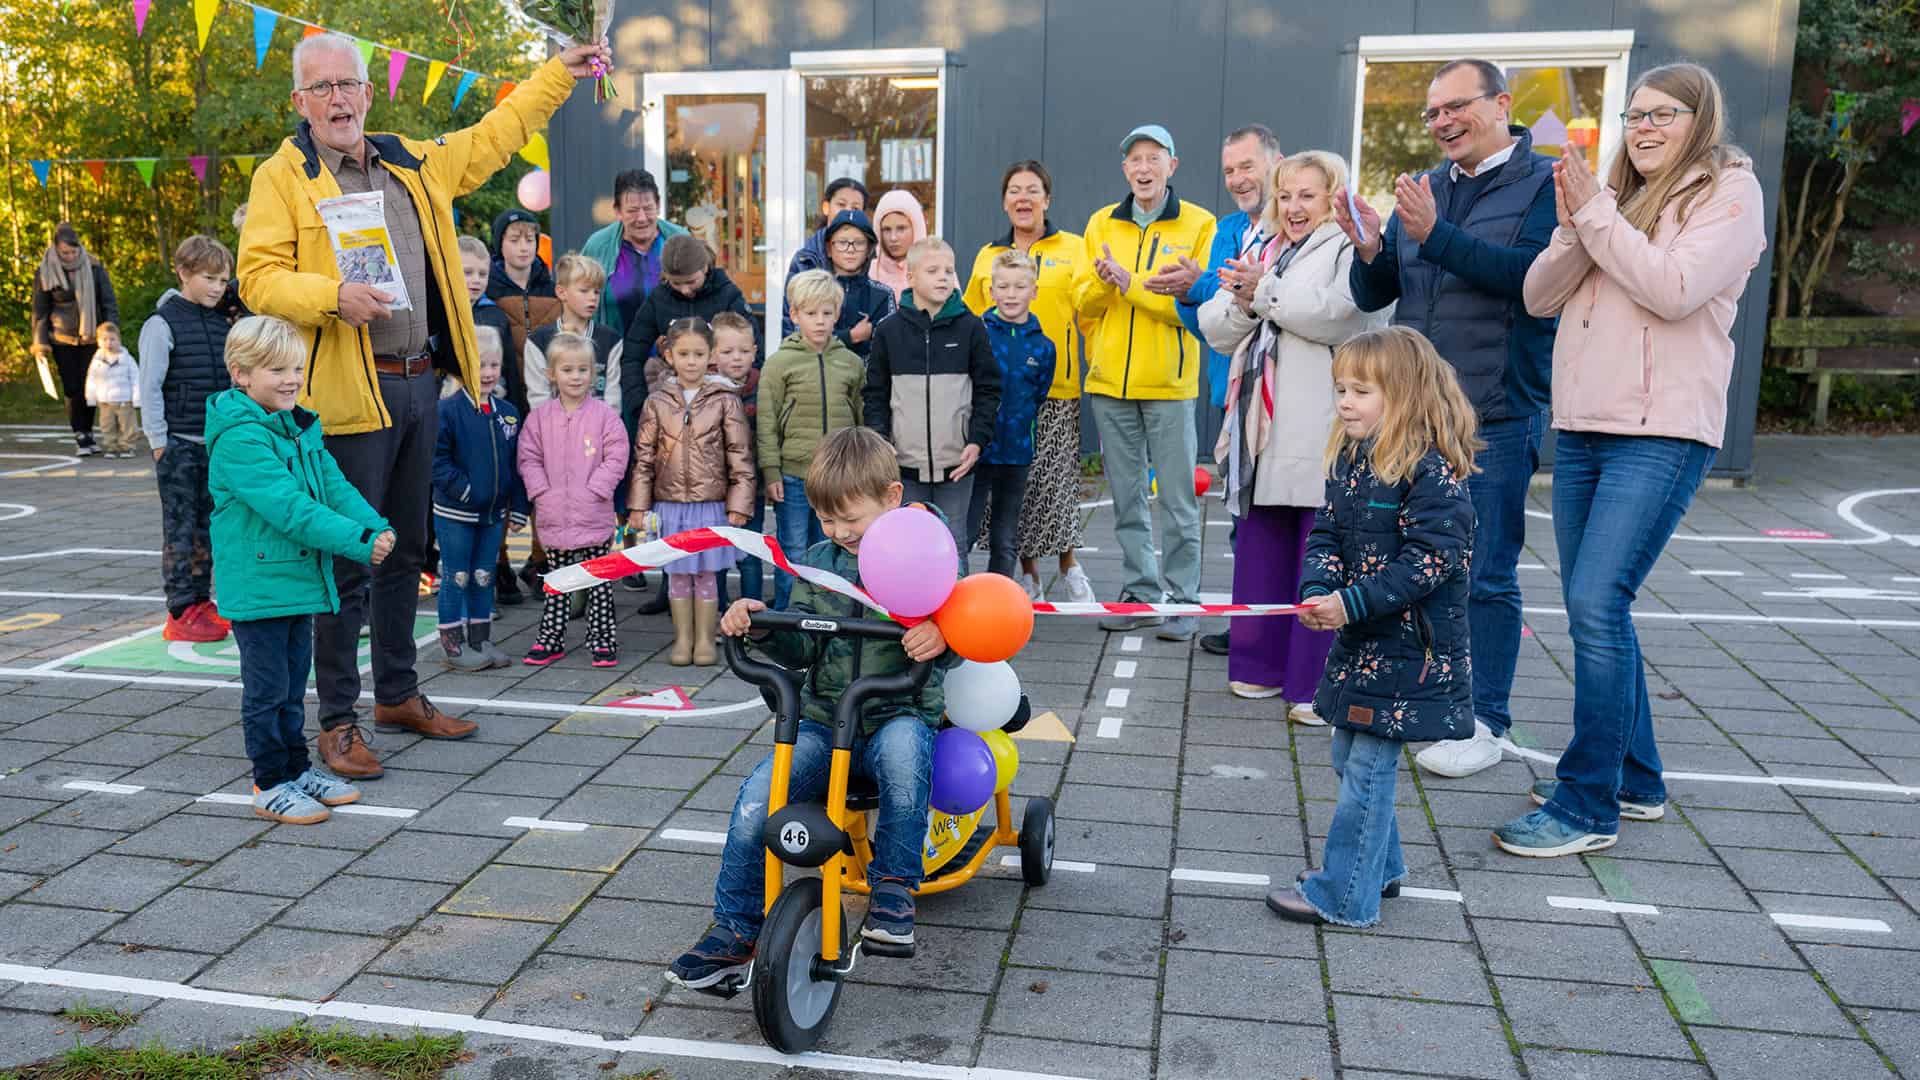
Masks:
[[[553,398],[526,415],[520,432],[520,479],[534,500],[534,532],[557,571],[607,553],[612,540],[612,494],[626,480],[626,425],[593,396],[593,342],[555,334],[547,344]],[[545,667],[566,655],[568,600],[547,594],[540,636],[526,663]],[[588,590],[588,650],[593,667],[620,663],[612,586]]]

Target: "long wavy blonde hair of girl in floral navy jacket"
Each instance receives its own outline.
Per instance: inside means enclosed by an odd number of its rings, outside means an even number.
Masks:
[[[1332,377],[1369,382],[1382,398],[1380,427],[1373,432],[1369,461],[1373,475],[1398,484],[1413,479],[1413,467],[1438,448],[1453,477],[1465,480],[1473,455],[1486,444],[1478,436],[1478,417],[1425,334],[1407,327],[1363,331],[1332,354]],[[1359,454],[1361,442],[1334,421],[1327,438],[1327,475]]]

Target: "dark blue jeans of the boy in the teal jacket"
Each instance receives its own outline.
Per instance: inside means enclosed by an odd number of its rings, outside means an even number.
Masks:
[[[307,771],[307,675],[313,615],[234,619],[240,646],[240,734],[261,792]]]

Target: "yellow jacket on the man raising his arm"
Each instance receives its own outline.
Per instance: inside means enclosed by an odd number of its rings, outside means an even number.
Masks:
[[[480,357],[461,277],[453,200],[484,184],[526,146],[572,88],[566,65],[549,60],[472,127],[434,140],[367,136],[420,213],[432,281],[426,296],[413,302],[426,306],[436,361],[449,369],[457,365],[468,386],[478,384]],[[300,404],[321,415],[326,434],[363,434],[394,427],[394,419],[380,398],[365,327],[353,329],[338,319],[340,269],[326,225],[313,208],[338,194],[340,184],[321,163],[313,135],[301,121],[294,136],[253,171],[236,277],[240,300],[250,311],[278,315],[307,334],[307,388]]]

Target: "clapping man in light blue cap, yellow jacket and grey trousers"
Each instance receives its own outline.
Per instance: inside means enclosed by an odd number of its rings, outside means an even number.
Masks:
[[[1087,219],[1087,259],[1073,275],[1073,307],[1094,325],[1087,336],[1087,398],[1100,430],[1100,455],[1114,490],[1114,534],[1125,559],[1119,598],[1137,603],[1200,601],[1200,500],[1192,469],[1200,457],[1194,398],[1200,342],[1181,325],[1179,300],[1200,277],[1196,258],[1213,244],[1213,215],[1167,186],[1179,158],[1158,123],[1121,140],[1127,198]],[[1146,471],[1160,473],[1165,513],[1165,584],[1154,555]],[[1185,642],[1194,619],[1112,615],[1104,630],[1160,626]]]

